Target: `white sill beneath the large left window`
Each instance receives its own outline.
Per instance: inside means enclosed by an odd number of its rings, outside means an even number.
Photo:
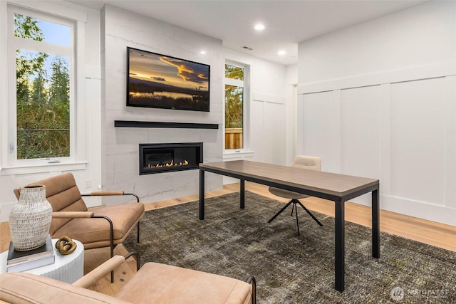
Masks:
[[[87,162],[68,162],[59,164],[31,164],[15,167],[3,167],[0,169],[0,176],[33,174],[43,172],[58,172],[58,171],[75,171],[85,170]]]

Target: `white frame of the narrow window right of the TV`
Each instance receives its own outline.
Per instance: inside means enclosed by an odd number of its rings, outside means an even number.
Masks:
[[[234,65],[238,68],[244,70],[244,80],[233,79],[233,78],[223,78],[223,153],[224,154],[239,154],[244,152],[250,152],[249,150],[249,103],[250,103],[250,65],[245,63],[239,63],[236,61],[225,60],[225,65]],[[223,69],[225,75],[225,68]],[[242,148],[240,149],[225,149],[225,111],[226,111],[226,95],[225,87],[226,85],[234,85],[237,87],[242,87]]]

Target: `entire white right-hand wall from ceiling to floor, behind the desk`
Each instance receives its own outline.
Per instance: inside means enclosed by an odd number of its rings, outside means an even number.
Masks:
[[[455,16],[430,1],[299,43],[297,143],[325,171],[380,179],[380,208],[453,226]]]

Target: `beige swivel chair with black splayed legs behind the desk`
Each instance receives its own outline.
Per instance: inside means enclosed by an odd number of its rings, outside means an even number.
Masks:
[[[307,156],[307,155],[297,155],[294,160],[293,164],[291,165],[292,167],[297,167],[297,168],[302,168],[302,169],[308,169],[308,170],[316,170],[316,171],[321,171],[321,158],[316,157],[316,156]],[[301,194],[298,192],[291,192],[288,190],[284,189],[279,189],[275,187],[269,187],[269,192],[276,196],[284,197],[286,199],[291,199],[288,204],[284,206],[284,208],[280,209],[279,212],[276,213],[276,215],[272,216],[271,219],[269,219],[268,223],[271,223],[271,221],[274,221],[274,219],[282,213],[288,206],[293,204],[291,208],[291,216],[293,216],[293,212],[296,214],[296,225],[298,226],[298,235],[299,235],[299,221],[298,221],[298,208],[296,205],[299,204],[311,217],[314,219],[318,225],[323,226],[323,224],[316,219],[314,214],[307,209],[304,204],[299,201],[299,199],[304,199],[306,197],[309,197],[309,195],[306,194]]]

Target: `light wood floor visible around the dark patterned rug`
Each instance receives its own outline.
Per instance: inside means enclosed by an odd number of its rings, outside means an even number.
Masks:
[[[286,199],[280,199],[277,196],[270,194],[267,187],[261,184],[246,182],[246,189],[250,192],[277,199],[279,201],[287,201]],[[206,197],[219,196],[237,191],[239,191],[239,184],[229,184],[217,192],[207,193]],[[146,204],[145,209],[146,211],[158,209],[165,206],[183,204],[188,201],[195,201],[197,199],[198,196],[193,195],[180,197],[178,199],[170,199],[167,201],[157,201],[155,203]],[[332,201],[311,197],[304,199],[304,202],[306,207],[312,211],[334,216],[334,203]],[[352,204],[350,202],[346,203],[346,221],[351,221],[363,226],[371,226],[371,208],[359,204]],[[405,216],[402,214],[395,214],[390,211],[380,211],[380,230],[456,252],[455,226],[439,224],[433,221],[417,219],[415,217]],[[0,249],[1,251],[6,251],[8,250],[9,241],[11,240],[7,222],[1,223],[0,236]],[[115,254],[125,255],[127,253],[128,252],[122,245],[115,248]],[[108,258],[109,248],[86,250],[84,253],[84,273],[88,273],[96,266],[108,260]],[[114,283],[110,283],[110,275],[107,275],[103,280],[100,280],[98,283],[93,285],[91,289],[97,290],[100,293],[114,295],[126,282],[130,280],[130,278],[135,275],[135,273],[136,263],[133,258],[130,258],[127,262],[123,263],[122,266],[115,270]]]

